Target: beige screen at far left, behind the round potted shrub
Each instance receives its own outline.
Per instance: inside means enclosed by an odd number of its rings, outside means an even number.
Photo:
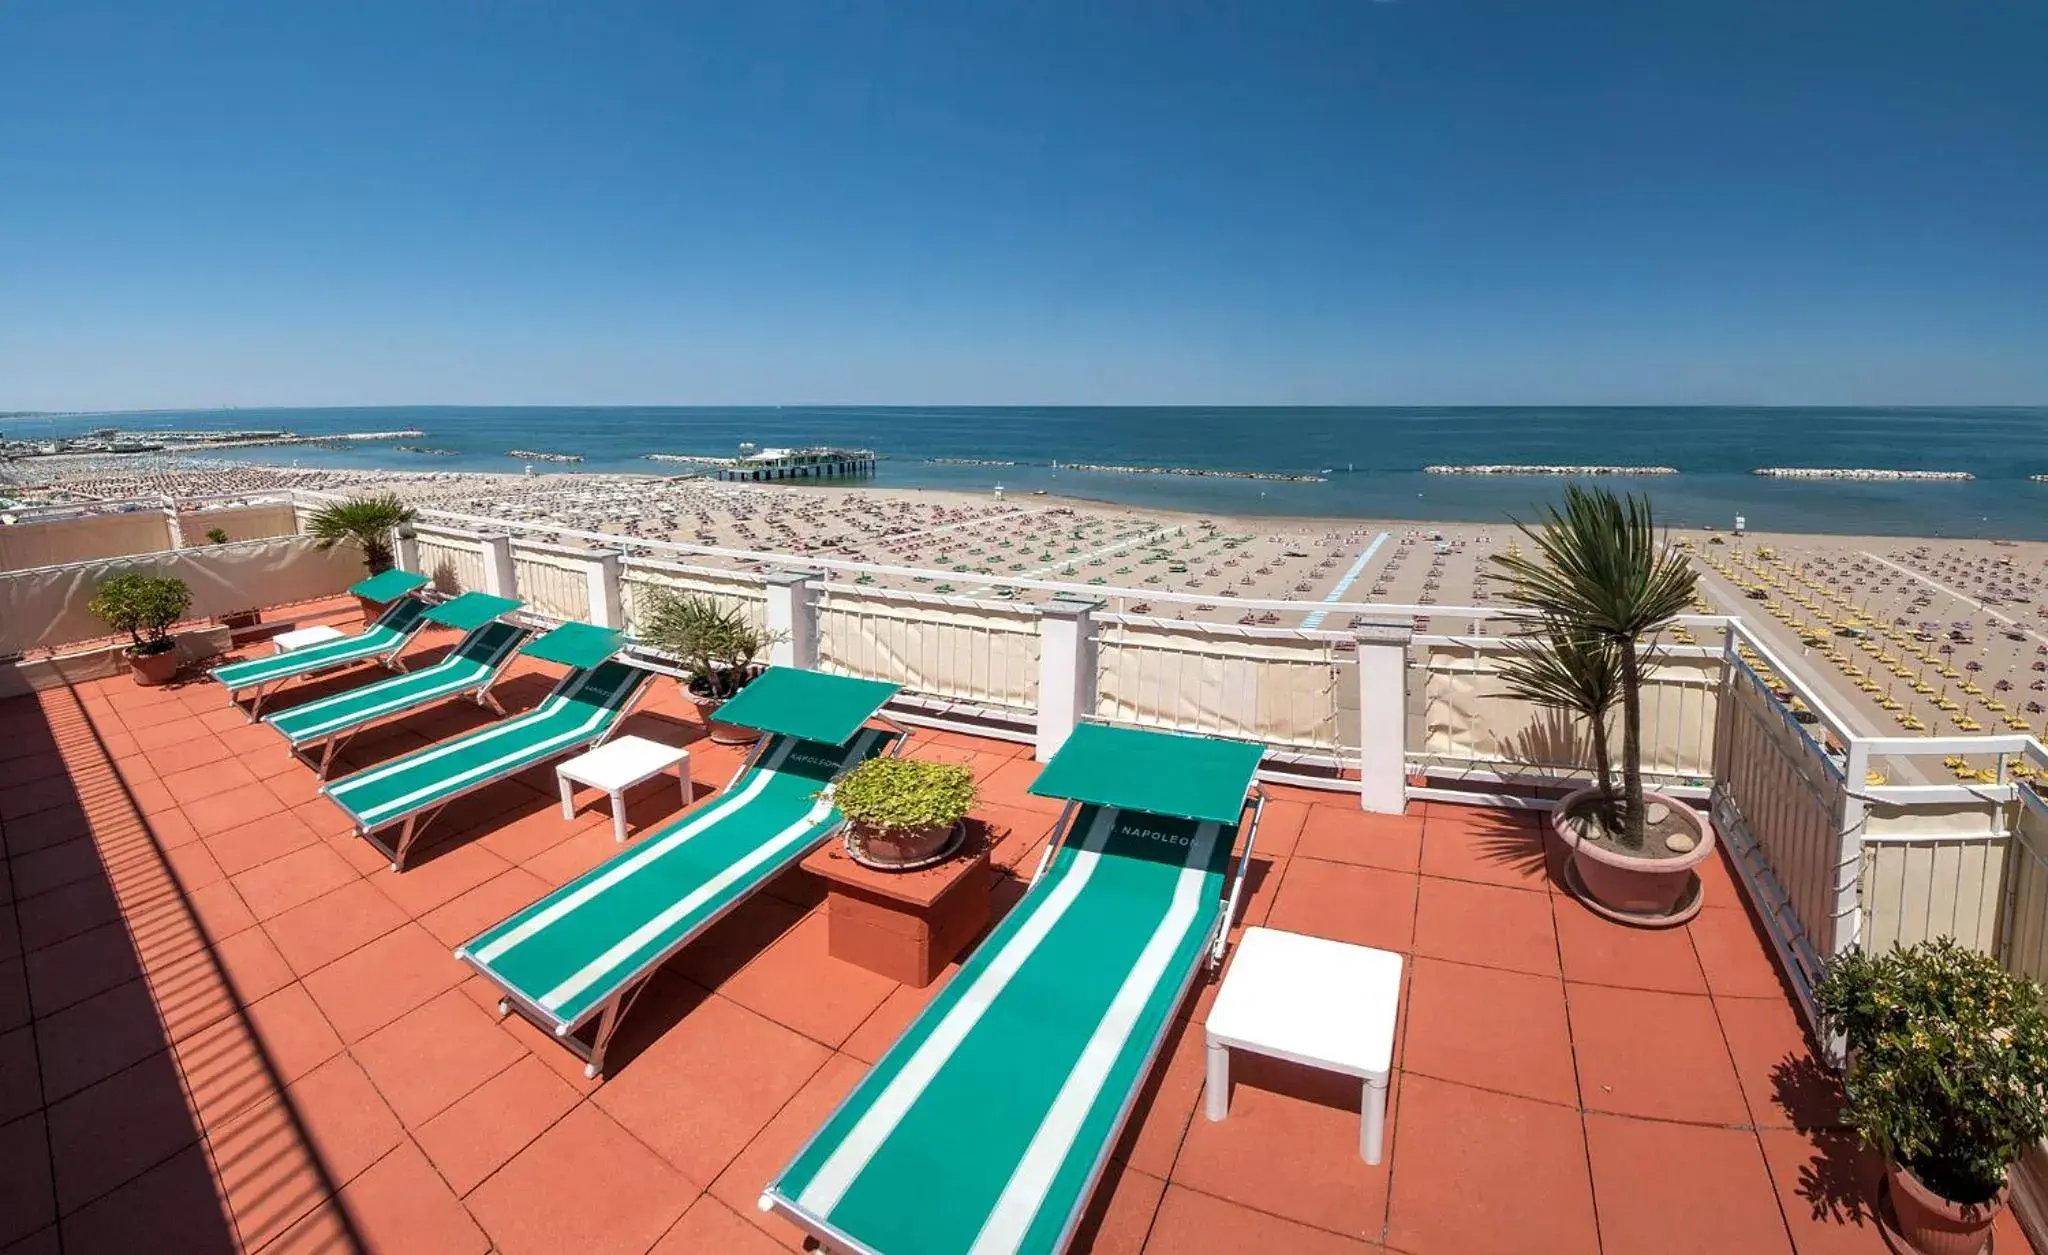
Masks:
[[[174,575],[193,590],[188,618],[285,606],[334,596],[362,579],[362,561],[346,549],[322,551],[307,536],[174,549],[98,563],[0,573],[0,653],[57,649],[109,637],[86,604],[119,571]]]

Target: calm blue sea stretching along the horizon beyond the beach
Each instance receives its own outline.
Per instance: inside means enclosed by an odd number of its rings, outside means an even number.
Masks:
[[[514,471],[508,448],[584,455],[578,471],[676,471],[647,452],[731,455],[758,444],[860,444],[881,487],[1028,491],[1214,514],[1497,520],[1563,481],[1450,479],[1430,463],[1669,465],[1677,477],[1610,479],[1651,491],[1686,526],[2048,538],[2048,407],[2001,409],[1206,409],[1206,407],[375,407],[223,409],[0,420],[8,436],[98,426],[289,428],[301,434],[420,428],[457,457],[254,448],[231,457],[307,467]],[[928,465],[930,457],[1038,463]],[[1319,473],[1327,483],[1108,475],[1044,463]],[[1767,481],[1755,467],[1970,471],[1970,483]],[[547,471],[567,469],[543,465]]]

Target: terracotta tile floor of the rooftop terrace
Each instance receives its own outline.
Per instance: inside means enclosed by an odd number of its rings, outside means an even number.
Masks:
[[[506,700],[547,686],[518,667]],[[483,721],[420,715],[346,762]],[[666,680],[633,725],[692,743],[698,798],[737,764]],[[608,856],[606,803],[563,821],[530,772],[393,876],[266,735],[205,682],[0,702],[0,1251],[799,1243],[754,1210],[760,1185],[930,989],[829,958],[797,872],[678,956],[612,1077],[586,1081],[498,1022],[451,944]],[[913,745],[975,768],[997,864],[1028,870],[1051,827],[1028,753]],[[1358,1159],[1356,1085],[1303,1069],[1241,1056],[1229,1120],[1200,1118],[1206,985],[1081,1249],[1882,1249],[1870,1165],[1829,1128],[1831,1085],[1724,868],[1696,923],[1640,934],[1554,891],[1516,815],[1272,796],[1245,917],[1409,956],[1386,1163]],[[641,831],[676,807],[672,784],[629,800]]]

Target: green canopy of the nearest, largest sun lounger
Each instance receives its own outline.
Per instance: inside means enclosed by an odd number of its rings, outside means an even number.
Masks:
[[[725,719],[721,712],[719,719]],[[1253,741],[1190,737],[1083,723],[1030,792],[1096,807],[1237,823],[1264,747]]]

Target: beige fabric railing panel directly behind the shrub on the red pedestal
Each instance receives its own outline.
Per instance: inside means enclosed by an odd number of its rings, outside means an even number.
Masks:
[[[1038,706],[1040,639],[1022,606],[836,583],[817,608],[819,669],[991,706]]]

